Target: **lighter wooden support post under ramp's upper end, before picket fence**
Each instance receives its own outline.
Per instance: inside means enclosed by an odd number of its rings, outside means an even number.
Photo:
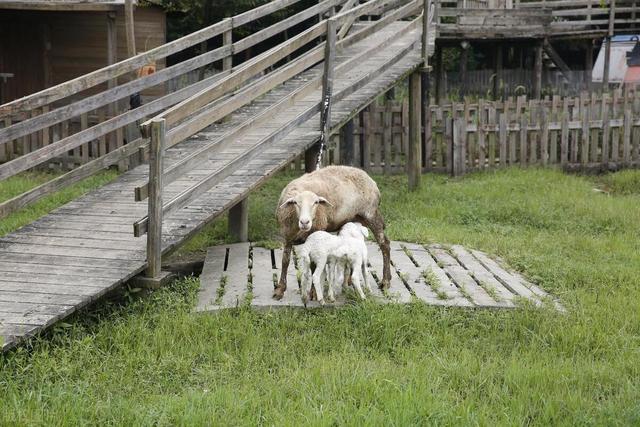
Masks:
[[[417,71],[409,77],[409,150],[407,153],[409,190],[416,190],[420,187],[422,173],[420,80],[420,73]]]

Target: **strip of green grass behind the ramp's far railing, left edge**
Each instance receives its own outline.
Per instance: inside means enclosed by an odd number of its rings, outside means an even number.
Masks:
[[[77,184],[69,186],[61,191],[44,197],[43,199],[33,203],[0,219],[0,236],[10,233],[23,225],[29,224],[51,210],[62,206],[65,203],[79,197],[89,190],[101,187],[117,176],[117,172],[106,170],[93,175]],[[16,175],[7,180],[0,182],[0,202],[18,196],[40,184],[43,184],[56,175],[44,172],[26,172]]]

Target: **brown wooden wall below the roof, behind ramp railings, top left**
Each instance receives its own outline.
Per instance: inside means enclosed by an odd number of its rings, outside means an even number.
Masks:
[[[135,23],[138,52],[165,43],[166,19],[162,10],[137,8]],[[127,57],[122,10],[116,14],[116,27],[117,59],[122,60]],[[45,49],[47,39],[50,41],[49,50]],[[0,72],[16,75],[2,87],[4,102],[87,74],[105,65],[106,12],[0,10]],[[162,68],[162,64],[158,64],[158,68]],[[50,73],[49,76],[47,73]],[[155,90],[145,94],[158,92],[159,90]]]

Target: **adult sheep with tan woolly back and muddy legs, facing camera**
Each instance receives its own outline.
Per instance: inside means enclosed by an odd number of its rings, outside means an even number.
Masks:
[[[287,289],[293,245],[304,243],[314,231],[338,231],[347,222],[359,222],[373,233],[382,250],[382,287],[389,287],[390,248],[380,213],[380,190],[366,172],[349,166],[328,166],[294,179],[280,194],[276,217],[285,246],[275,299],[281,299]]]

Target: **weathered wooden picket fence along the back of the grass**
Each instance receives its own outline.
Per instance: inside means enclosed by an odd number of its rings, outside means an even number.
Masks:
[[[525,96],[504,102],[432,106],[423,171],[460,175],[509,165],[560,165],[570,170],[640,166],[640,91]],[[376,103],[354,120],[349,138],[334,135],[327,163],[353,164],[372,173],[405,173],[407,103]],[[353,153],[345,156],[344,153]],[[341,155],[342,154],[342,155]]]

